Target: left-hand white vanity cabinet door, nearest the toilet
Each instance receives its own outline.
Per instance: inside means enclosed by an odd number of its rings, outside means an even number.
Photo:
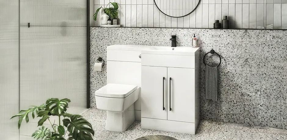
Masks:
[[[141,67],[141,117],[167,119],[166,76],[166,67]]]

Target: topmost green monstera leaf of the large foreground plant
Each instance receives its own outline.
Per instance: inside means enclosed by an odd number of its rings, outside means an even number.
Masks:
[[[46,101],[46,110],[52,114],[60,115],[67,110],[68,103],[71,102],[70,99],[51,98]]]

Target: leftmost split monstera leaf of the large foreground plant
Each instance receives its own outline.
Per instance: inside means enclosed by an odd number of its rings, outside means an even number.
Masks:
[[[35,113],[38,115],[40,111],[45,110],[45,104],[42,104],[41,106],[30,106],[31,108],[29,108],[28,110],[21,110],[19,112],[19,114],[13,116],[13,117],[20,117],[19,121],[18,121],[18,128],[20,128],[22,120],[26,120],[26,122],[29,122],[29,113],[32,113],[32,117],[34,119],[35,117]],[[12,119],[13,117],[11,117],[10,119]]]

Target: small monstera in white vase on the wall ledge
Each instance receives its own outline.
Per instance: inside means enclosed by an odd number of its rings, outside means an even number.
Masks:
[[[113,7],[107,8],[107,6],[110,4],[113,5],[114,8]],[[100,8],[98,8],[96,10],[95,14],[93,15],[94,20],[96,21],[100,9],[104,10],[104,13],[106,13],[106,14],[102,14],[102,16],[100,17],[100,22],[102,23],[102,25],[107,24],[107,20],[109,17],[111,17],[113,20],[116,20],[116,18],[118,17],[118,3],[117,2],[109,2],[107,4],[107,6],[106,6],[106,8],[103,8],[103,6],[101,6]]]

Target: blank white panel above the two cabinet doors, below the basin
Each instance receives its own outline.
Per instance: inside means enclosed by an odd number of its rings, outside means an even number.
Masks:
[[[195,56],[187,55],[164,55],[164,54],[141,54],[142,66],[195,68]]]

